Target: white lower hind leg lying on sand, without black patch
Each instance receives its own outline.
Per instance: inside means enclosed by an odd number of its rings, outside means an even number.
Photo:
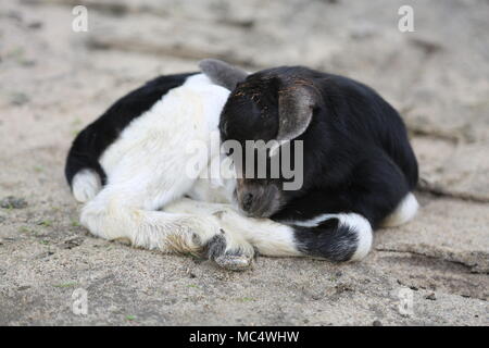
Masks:
[[[82,224],[101,238],[127,239],[135,247],[168,253],[201,256],[210,240],[220,235],[212,216],[146,210],[122,192],[112,187],[102,189],[83,208]]]

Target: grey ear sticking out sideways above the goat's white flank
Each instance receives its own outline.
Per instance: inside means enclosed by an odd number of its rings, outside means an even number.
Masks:
[[[216,59],[201,60],[199,67],[214,84],[229,90],[235,89],[248,76],[246,71]]]

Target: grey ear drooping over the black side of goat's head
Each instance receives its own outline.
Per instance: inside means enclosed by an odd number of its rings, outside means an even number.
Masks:
[[[279,142],[292,140],[308,129],[317,98],[313,87],[303,84],[292,83],[278,91]]]

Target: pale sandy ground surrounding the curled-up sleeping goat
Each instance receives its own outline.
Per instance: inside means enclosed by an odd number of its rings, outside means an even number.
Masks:
[[[1,325],[489,324],[488,1],[78,2],[87,33],[72,30],[72,1],[0,5]],[[406,3],[415,33],[398,30]],[[91,237],[63,177],[75,134],[206,57],[375,87],[410,128],[418,216],[379,231],[361,263],[262,257],[243,273]]]

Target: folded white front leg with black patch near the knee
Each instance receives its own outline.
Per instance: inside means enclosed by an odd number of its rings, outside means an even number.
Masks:
[[[321,214],[315,219],[280,223],[243,216],[230,204],[181,199],[168,208],[178,213],[215,216],[226,238],[227,251],[221,254],[226,256],[230,264],[239,264],[238,257],[251,257],[253,250],[268,257],[354,261],[364,258],[372,245],[371,224],[355,213]]]

